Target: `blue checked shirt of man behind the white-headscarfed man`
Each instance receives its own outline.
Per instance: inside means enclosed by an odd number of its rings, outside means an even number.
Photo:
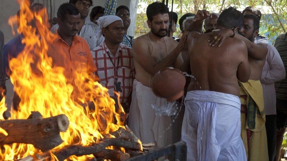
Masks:
[[[117,0],[106,0],[104,15],[116,15]],[[134,41],[134,37],[125,34],[121,43],[131,48]]]

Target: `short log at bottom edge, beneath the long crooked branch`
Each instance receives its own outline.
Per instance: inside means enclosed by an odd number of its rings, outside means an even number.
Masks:
[[[124,153],[118,150],[111,150],[111,149],[104,149],[96,154],[94,156],[109,160],[117,160],[122,161],[130,158],[130,155],[128,153]]]

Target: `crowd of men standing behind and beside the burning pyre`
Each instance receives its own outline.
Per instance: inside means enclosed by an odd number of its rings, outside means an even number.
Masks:
[[[287,127],[287,33],[271,45],[259,34],[258,9],[229,7],[220,15],[199,10],[178,20],[165,4],[154,2],[146,9],[150,32],[134,39],[127,35],[127,6],[116,8],[117,0],[106,0],[89,16],[91,6],[92,0],[70,0],[49,20],[57,38],[47,54],[53,65],[64,67],[67,83],[73,85],[73,71],[86,68],[111,97],[120,95],[128,126],[143,143],[161,148],[183,140],[187,160],[279,160]],[[181,38],[173,37],[177,23]],[[4,75],[11,74],[9,60],[25,47],[23,38],[19,34],[4,45],[0,31],[2,89]],[[168,130],[171,117],[156,116],[152,108],[168,101],[151,89],[153,76],[165,67],[193,74],[201,86],[193,90],[187,79],[186,97],[180,100],[184,116]],[[18,104],[15,93],[14,109]]]

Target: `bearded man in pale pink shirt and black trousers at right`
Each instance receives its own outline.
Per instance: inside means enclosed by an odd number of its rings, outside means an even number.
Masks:
[[[244,25],[241,32],[254,42],[258,37],[259,19],[252,15],[244,15]],[[259,42],[261,43],[261,42]],[[285,68],[281,57],[276,48],[264,43],[268,48],[266,62],[263,67],[261,84],[264,96],[264,109],[266,114],[266,134],[268,143],[269,160],[275,161],[276,158],[276,92],[274,83],[285,78]],[[252,135],[251,135],[252,136]]]

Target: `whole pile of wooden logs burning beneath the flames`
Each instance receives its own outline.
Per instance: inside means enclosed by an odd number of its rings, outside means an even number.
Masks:
[[[21,160],[31,160],[31,158],[34,158],[32,160],[41,158],[48,158],[49,160],[51,158],[49,150],[63,142],[60,133],[68,129],[69,119],[65,115],[42,118],[39,112],[32,112],[27,119],[0,121],[0,127],[8,133],[8,135],[0,133],[2,152],[3,145],[12,143],[32,144],[35,148],[41,150],[41,155],[35,154],[35,156],[28,156]],[[91,154],[97,159],[126,160],[131,155],[139,154],[137,152],[141,149],[141,145],[137,140],[136,136],[129,129],[119,128],[117,131],[104,135],[102,140],[98,140],[97,143],[90,146],[69,145],[53,153],[59,161],[65,160],[72,155]],[[114,147],[114,150],[107,149],[107,147],[111,146]],[[125,148],[126,153],[122,152],[120,148]]]

